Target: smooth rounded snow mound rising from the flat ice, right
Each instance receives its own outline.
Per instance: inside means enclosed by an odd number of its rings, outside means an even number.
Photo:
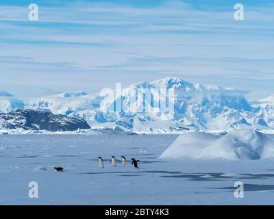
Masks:
[[[240,129],[225,135],[185,133],[160,155],[162,159],[266,159],[274,157],[271,135]]]

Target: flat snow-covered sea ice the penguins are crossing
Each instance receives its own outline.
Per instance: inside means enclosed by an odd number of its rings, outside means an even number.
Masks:
[[[274,159],[160,160],[177,136],[0,136],[1,205],[274,204]],[[110,165],[114,155],[118,166]],[[140,169],[120,157],[140,159]],[[105,160],[99,169],[97,157]],[[62,166],[64,172],[54,172]],[[29,198],[36,181],[39,197]],[[234,198],[234,183],[245,198]]]

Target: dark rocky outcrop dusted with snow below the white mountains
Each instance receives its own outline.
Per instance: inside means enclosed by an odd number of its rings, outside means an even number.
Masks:
[[[15,110],[0,113],[0,128],[47,131],[76,131],[90,129],[85,120],[52,114],[49,110]]]

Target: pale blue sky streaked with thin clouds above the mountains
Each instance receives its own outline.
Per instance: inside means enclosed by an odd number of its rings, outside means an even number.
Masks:
[[[0,90],[31,98],[180,77],[264,98],[274,94],[273,11],[264,0],[1,0]]]

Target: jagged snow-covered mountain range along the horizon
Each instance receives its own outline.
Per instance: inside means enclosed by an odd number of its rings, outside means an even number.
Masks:
[[[161,95],[162,90],[172,97]],[[18,107],[47,109],[54,114],[84,118],[91,127],[119,125],[131,131],[164,133],[187,129],[273,129],[273,99],[251,104],[241,91],[232,88],[169,77],[150,83],[134,83],[123,89],[121,95],[65,92],[25,101]],[[170,103],[174,107],[169,108]],[[16,105],[6,105],[0,101],[0,111],[16,108]]]

